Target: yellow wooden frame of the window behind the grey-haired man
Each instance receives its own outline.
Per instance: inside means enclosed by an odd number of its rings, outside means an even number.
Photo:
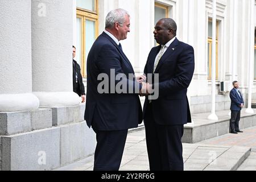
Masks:
[[[81,9],[79,7],[76,7],[76,18],[81,18],[81,75],[83,78],[86,78],[86,44],[85,44],[85,20],[91,20],[95,22],[95,35],[94,38],[96,39],[98,36],[98,0],[94,0],[95,6],[96,6],[96,12],[86,10],[86,9]]]

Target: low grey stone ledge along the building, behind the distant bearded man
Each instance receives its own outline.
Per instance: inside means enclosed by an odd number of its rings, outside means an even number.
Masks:
[[[184,126],[184,135],[182,142],[196,143],[210,138],[218,137],[229,133],[229,110],[217,111],[218,121],[210,121],[207,119],[210,113],[192,114],[193,123]],[[255,114],[245,113],[245,109],[241,111],[240,129],[246,129],[256,126],[256,110]]]

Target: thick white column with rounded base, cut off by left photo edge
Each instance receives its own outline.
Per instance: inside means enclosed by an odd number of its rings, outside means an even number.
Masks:
[[[31,1],[0,0],[0,111],[38,109],[32,94]]]

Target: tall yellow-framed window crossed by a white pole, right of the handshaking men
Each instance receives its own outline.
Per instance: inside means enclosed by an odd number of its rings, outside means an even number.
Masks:
[[[218,78],[218,22],[216,22],[216,79]],[[208,79],[212,79],[212,19],[208,20]]]

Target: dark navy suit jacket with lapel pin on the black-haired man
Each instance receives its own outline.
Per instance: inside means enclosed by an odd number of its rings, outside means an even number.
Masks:
[[[156,55],[161,46],[151,49],[144,73],[152,73]],[[184,125],[191,122],[187,88],[195,69],[193,47],[175,39],[160,59],[155,73],[159,74],[159,98],[152,100],[154,121],[159,125]],[[144,103],[143,116],[147,111],[148,100]],[[145,117],[144,117],[145,118]],[[146,122],[146,121],[144,121]]]

